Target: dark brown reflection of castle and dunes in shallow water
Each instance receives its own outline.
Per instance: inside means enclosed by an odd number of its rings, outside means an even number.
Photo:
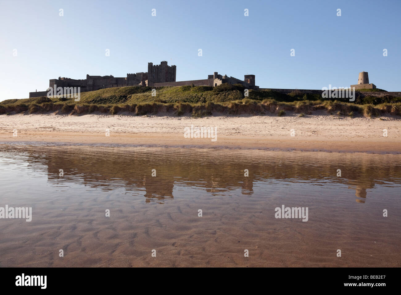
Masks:
[[[401,179],[399,155],[1,146],[0,158],[9,160],[3,165],[22,159],[28,169],[45,171],[53,185],[79,183],[103,191],[123,188],[139,192],[147,203],[173,199],[174,188],[182,187],[213,196],[233,191],[251,196],[260,183],[308,183],[320,193],[341,185],[355,191],[356,202],[365,203],[369,191],[378,185],[400,186]],[[59,169],[63,169],[63,177]],[[156,177],[152,177],[152,169]],[[337,169],[341,169],[341,177],[336,176]]]

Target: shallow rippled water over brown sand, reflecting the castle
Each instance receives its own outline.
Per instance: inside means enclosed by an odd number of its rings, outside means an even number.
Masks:
[[[400,155],[0,145],[0,207],[32,207],[31,222],[0,219],[0,266],[399,267],[400,166]],[[275,218],[282,205],[308,208],[308,221]]]

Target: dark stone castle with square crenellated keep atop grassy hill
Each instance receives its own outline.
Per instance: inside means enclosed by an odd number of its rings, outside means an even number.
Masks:
[[[228,77],[227,75],[219,75],[214,72],[213,75],[208,75],[207,79],[203,80],[188,80],[188,81],[177,81],[176,82],[176,66],[167,65],[167,61],[162,61],[160,65],[153,65],[148,63],[148,71],[146,73],[127,73],[127,77],[113,77],[109,76],[90,76],[86,75],[86,79],[71,79],[65,77],[59,77],[59,79],[50,79],[49,88],[56,87],[71,88],[68,93],[74,93],[74,87],[80,87],[80,92],[87,92],[93,90],[99,90],[110,87],[124,87],[124,86],[183,86],[183,85],[206,85],[206,86],[217,86],[223,83],[230,84],[242,84],[249,89],[259,88],[255,86],[255,75],[245,75],[244,80],[240,80],[234,77]],[[48,88],[48,89],[49,89]],[[29,97],[47,96],[48,91],[36,91],[29,92]]]

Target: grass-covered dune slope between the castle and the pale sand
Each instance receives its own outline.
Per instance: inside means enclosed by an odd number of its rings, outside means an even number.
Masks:
[[[344,116],[380,116],[391,114],[400,116],[401,98],[392,96],[362,96],[356,99],[323,100],[320,94],[303,94],[294,91],[282,94],[271,90],[249,90],[244,96],[245,87],[240,84],[210,86],[156,87],[114,87],[91,92],[82,92],[79,102],[74,98],[28,98],[4,100],[0,102],[0,114],[45,113],[89,114],[101,112],[117,114],[130,112],[136,115],[169,112],[177,116],[207,116],[215,113],[227,114],[277,114],[286,111],[312,114],[314,110],[327,110]]]

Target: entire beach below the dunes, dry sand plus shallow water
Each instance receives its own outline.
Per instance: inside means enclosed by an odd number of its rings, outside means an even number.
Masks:
[[[400,147],[396,117],[1,115],[32,221],[2,220],[0,267],[398,267]]]

